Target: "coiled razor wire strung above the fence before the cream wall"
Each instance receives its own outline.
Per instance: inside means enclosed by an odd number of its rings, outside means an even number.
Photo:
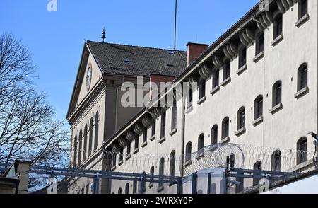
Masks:
[[[184,156],[137,153],[126,157],[108,151],[105,153],[105,160],[116,167],[115,171],[119,172],[151,173],[151,168],[154,167],[155,170],[161,168],[163,175],[180,175],[182,167],[184,167],[184,175],[191,175],[204,168],[226,168],[226,156],[230,156],[230,154],[235,154],[234,168],[254,169],[258,162],[261,163],[261,169],[264,171],[273,171],[273,169],[275,171],[301,171],[295,167],[301,162],[310,161],[314,156],[313,151],[246,144],[213,144],[192,154],[184,154]],[[119,160],[119,158],[121,159]],[[119,163],[119,161],[121,162]],[[162,161],[161,166],[160,161]],[[275,167],[273,167],[273,163],[275,163]]]

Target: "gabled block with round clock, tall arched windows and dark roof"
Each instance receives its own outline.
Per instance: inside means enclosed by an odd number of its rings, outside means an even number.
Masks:
[[[102,144],[126,125],[143,105],[121,105],[123,83],[130,83],[142,95],[143,83],[171,81],[186,67],[182,51],[86,41],[73,88],[67,120],[71,125],[72,168],[105,169]],[[142,78],[141,84],[137,78]],[[89,181],[79,184],[76,192],[86,190]],[[101,189],[100,189],[101,190]]]

